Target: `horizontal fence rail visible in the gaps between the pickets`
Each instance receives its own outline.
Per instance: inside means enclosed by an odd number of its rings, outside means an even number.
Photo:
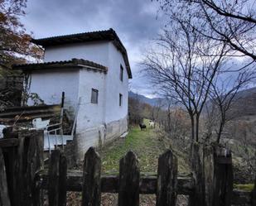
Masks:
[[[41,172],[38,185],[42,189],[47,189],[48,175],[47,172]],[[119,176],[102,175],[101,176],[101,192],[102,193],[118,193]],[[79,170],[68,170],[67,172],[67,191],[82,191],[83,172]],[[177,194],[191,194],[194,189],[194,180],[191,175],[179,176],[177,178]],[[141,174],[139,183],[140,194],[157,194],[157,175]]]

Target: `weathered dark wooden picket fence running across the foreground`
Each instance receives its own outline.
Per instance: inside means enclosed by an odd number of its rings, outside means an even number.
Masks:
[[[195,147],[196,148],[196,147]],[[99,206],[101,193],[117,193],[119,206],[138,206],[139,194],[156,194],[158,206],[176,205],[177,194],[189,195],[189,205],[255,205],[255,189],[233,189],[231,154],[205,147],[200,168],[192,175],[177,172],[168,150],[159,156],[156,175],[140,173],[133,151],[119,161],[119,174],[101,175],[101,160],[93,147],[85,153],[82,170],[67,170],[65,155],[51,153],[43,168],[43,132],[11,132],[0,140],[0,206],[43,205],[42,189],[50,206],[66,205],[67,191],[82,192],[82,206]]]

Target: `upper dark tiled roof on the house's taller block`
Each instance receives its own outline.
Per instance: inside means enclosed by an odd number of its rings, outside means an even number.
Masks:
[[[132,71],[128,61],[128,54],[123,46],[122,41],[118,38],[118,35],[113,29],[109,29],[106,31],[93,31],[93,32],[85,32],[79,34],[65,35],[65,36],[53,36],[43,39],[32,39],[31,42],[36,45],[40,45],[43,47],[48,46],[59,46],[71,43],[79,43],[79,42],[89,42],[89,41],[112,41],[114,46],[117,47],[118,50],[123,55],[123,60],[128,72],[128,77],[132,79]]]

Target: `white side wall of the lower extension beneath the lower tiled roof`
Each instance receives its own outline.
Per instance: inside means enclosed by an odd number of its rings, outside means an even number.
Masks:
[[[47,69],[31,73],[30,93],[37,93],[46,104],[60,104],[65,92],[65,108],[74,112],[78,100],[79,69]],[[28,105],[32,105],[28,101]]]

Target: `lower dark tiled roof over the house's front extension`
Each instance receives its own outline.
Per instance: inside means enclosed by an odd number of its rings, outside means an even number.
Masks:
[[[65,61],[51,61],[36,64],[12,65],[12,69],[22,69],[24,72],[45,69],[65,69],[65,68],[88,68],[107,72],[108,68],[94,63],[93,61],[83,59],[72,59]]]

